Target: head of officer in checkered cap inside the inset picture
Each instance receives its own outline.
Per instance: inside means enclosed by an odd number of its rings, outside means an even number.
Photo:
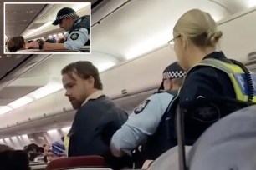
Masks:
[[[74,9],[70,7],[64,7],[57,13],[53,25],[59,24],[59,28],[63,28],[67,32],[73,27],[77,18],[79,18],[79,16],[76,14]]]

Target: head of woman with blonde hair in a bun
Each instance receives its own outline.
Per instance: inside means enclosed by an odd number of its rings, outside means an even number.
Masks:
[[[214,52],[222,35],[209,13],[199,9],[184,13],[173,28],[174,51],[181,67],[187,71]]]

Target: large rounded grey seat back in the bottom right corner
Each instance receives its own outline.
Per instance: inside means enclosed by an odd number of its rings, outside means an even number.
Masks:
[[[214,123],[192,146],[189,170],[256,169],[256,106]]]

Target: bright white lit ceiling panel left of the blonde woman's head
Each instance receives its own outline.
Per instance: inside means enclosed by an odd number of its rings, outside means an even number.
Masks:
[[[126,57],[141,44],[159,41],[165,45],[172,39],[172,28],[187,10],[199,8],[219,20],[228,11],[215,2],[205,0],[131,1],[92,28],[92,49]],[[148,47],[151,48],[151,47]]]

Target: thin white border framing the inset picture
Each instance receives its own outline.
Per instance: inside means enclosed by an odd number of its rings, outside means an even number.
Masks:
[[[5,34],[5,5],[6,4],[76,4],[76,3],[88,3],[89,4],[89,14],[90,14],[90,52],[5,52],[5,36],[3,36],[3,54],[91,54],[91,2],[3,2],[3,34]],[[37,49],[35,49],[37,50]]]

